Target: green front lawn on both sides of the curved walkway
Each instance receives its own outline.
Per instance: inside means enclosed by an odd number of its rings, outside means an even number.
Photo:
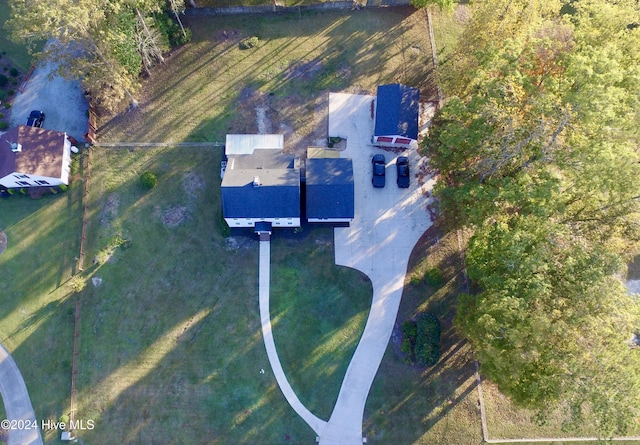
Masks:
[[[80,297],[76,419],[97,425],[80,433],[86,443],[314,440],[267,360],[257,240],[238,237],[227,250],[222,235],[220,156],[213,148],[94,151],[83,277],[102,282],[89,280]],[[146,170],[158,176],[151,191],[138,181]],[[301,399],[323,413],[371,301],[359,273],[333,265],[331,239],[330,229],[305,230],[276,235],[272,247],[283,366],[294,384],[314,380]]]

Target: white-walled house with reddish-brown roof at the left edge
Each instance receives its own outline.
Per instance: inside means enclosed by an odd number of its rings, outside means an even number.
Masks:
[[[0,135],[0,186],[68,185],[70,169],[66,133],[19,125]]]

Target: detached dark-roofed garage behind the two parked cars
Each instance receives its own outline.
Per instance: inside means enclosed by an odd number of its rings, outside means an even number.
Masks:
[[[418,141],[420,90],[406,85],[380,85],[376,98],[374,145],[410,148]]]

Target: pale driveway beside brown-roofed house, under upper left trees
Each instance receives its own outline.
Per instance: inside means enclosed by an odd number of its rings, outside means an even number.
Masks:
[[[36,67],[24,91],[13,100],[11,126],[24,125],[31,110],[41,110],[45,114],[43,128],[83,141],[89,125],[89,102],[80,82],[65,80],[55,72],[51,63]]]

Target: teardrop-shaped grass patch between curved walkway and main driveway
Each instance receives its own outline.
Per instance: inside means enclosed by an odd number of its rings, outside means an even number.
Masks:
[[[314,230],[303,244],[277,239],[272,249],[271,315],[278,354],[298,398],[329,420],[369,315],[371,283],[334,264],[329,228]]]

